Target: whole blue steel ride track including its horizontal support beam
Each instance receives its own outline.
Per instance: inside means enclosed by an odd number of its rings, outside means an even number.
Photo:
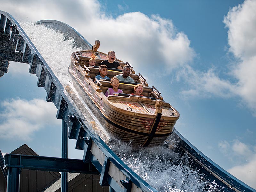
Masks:
[[[29,73],[38,77],[37,86],[44,87],[47,92],[46,101],[53,102],[58,109],[56,117],[62,119],[63,130],[68,125],[68,138],[76,139],[76,149],[84,150],[82,160],[67,159],[65,155],[62,158],[53,158],[16,154],[6,154],[4,159],[0,151],[0,166],[7,180],[7,192],[18,191],[20,169],[100,174],[100,185],[110,186],[111,191],[156,192],[156,189],[124,164],[93,131],[19,23],[7,12],[0,11],[0,14],[0,77],[8,72],[9,61],[29,63]],[[59,30],[67,38],[74,38],[77,47],[92,49],[92,45],[83,36],[65,23],[55,20],[42,20],[37,23]],[[63,131],[62,138],[65,138]],[[215,181],[219,186],[224,186],[225,191],[256,192],[206,157],[177,130],[174,130],[172,138],[177,142],[176,149],[179,153],[187,153],[193,159],[191,165],[199,169],[205,180]],[[65,142],[63,143],[62,154],[65,152]],[[58,167],[56,162],[59,163]],[[65,185],[67,184],[63,184],[62,188]]]

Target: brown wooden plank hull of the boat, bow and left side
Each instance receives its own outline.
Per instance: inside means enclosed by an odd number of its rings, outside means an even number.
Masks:
[[[83,51],[82,54],[89,56],[92,51]],[[103,58],[102,54],[101,57]],[[161,101],[159,114],[156,113],[158,101],[147,97],[108,96],[107,98],[100,85],[93,82],[73,55],[69,72],[88,94],[95,107],[100,110],[101,116],[106,121],[106,129],[118,138],[143,146],[147,146],[148,144],[145,143],[148,141],[150,144],[158,145],[174,131],[179,113],[170,104]]]

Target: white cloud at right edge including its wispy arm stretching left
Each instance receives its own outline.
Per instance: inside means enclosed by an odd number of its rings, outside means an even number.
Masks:
[[[185,66],[178,73],[190,86],[185,97],[238,97],[256,116],[256,1],[247,0],[224,17],[228,28],[229,52],[235,60],[228,64],[230,79],[219,77],[215,68],[206,72]],[[232,80],[233,81],[232,81]],[[235,79],[235,81],[234,81]]]

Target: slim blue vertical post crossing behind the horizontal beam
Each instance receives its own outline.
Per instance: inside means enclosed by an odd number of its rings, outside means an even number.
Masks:
[[[64,120],[62,120],[62,158],[68,158],[68,126]],[[68,191],[68,173],[61,172],[61,192]]]

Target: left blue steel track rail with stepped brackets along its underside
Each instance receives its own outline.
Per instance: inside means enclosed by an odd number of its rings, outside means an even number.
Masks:
[[[68,124],[69,138],[76,139],[76,147],[80,146],[80,149],[84,150],[83,161],[85,163],[91,162],[101,173],[100,184],[102,186],[110,186],[116,192],[156,192],[156,189],[142,180],[131,168],[124,164],[105,142],[93,132],[91,125],[86,121],[19,23],[7,12],[0,11],[0,14],[1,33],[10,34],[8,35],[10,38],[9,40],[7,39],[6,46],[12,47],[7,51],[3,51],[3,48],[0,47],[0,60],[29,63],[29,73],[36,74],[38,77],[37,86],[44,87],[47,92],[46,101],[53,102],[57,107],[57,119],[63,119]],[[17,53],[17,56],[13,59],[11,54],[15,53]],[[101,154],[99,154],[97,149],[100,150]],[[92,154],[92,151],[95,154]],[[99,158],[102,159],[102,157],[103,161],[100,162]],[[118,174],[109,175],[108,172],[111,169],[116,173],[121,173],[123,179],[116,180],[119,179]]]

